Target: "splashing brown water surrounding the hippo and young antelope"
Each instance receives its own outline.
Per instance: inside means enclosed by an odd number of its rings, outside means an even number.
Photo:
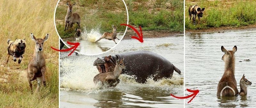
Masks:
[[[122,74],[114,88],[98,89],[93,78],[99,73],[93,62],[97,57],[146,50],[170,60],[181,74],[173,73],[171,79],[155,82],[148,78],[146,84],[136,83],[134,77]],[[184,101],[170,96],[183,96],[183,36],[122,40],[113,50],[97,56],[67,57],[60,54],[60,107],[183,107]]]

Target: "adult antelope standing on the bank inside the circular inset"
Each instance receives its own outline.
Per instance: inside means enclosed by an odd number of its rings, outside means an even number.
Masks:
[[[79,16],[78,13],[74,12],[73,13],[73,6],[75,5],[76,3],[74,4],[71,4],[70,2],[67,3],[67,6],[68,6],[68,11],[67,11],[67,15],[65,17],[65,30],[66,30],[66,27],[67,27],[67,24],[68,24],[68,27],[72,27],[73,24],[78,24],[78,28],[80,28],[80,22],[81,22],[81,18]],[[64,30],[64,31],[65,31]],[[67,28],[68,30],[68,28]]]

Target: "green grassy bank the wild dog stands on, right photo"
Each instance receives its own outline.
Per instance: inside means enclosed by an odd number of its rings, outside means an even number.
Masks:
[[[201,23],[196,25],[189,20],[188,8],[198,4],[205,8]],[[186,30],[208,29],[223,26],[246,26],[256,24],[256,2],[254,0],[187,0],[185,3],[185,28]]]

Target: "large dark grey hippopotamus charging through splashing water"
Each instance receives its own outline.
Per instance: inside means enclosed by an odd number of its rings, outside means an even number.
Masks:
[[[169,60],[150,51],[134,51],[97,58],[93,66],[96,66],[100,73],[114,71],[116,60],[120,59],[123,59],[126,66],[121,74],[135,76],[138,83],[146,83],[149,77],[153,77],[155,81],[163,77],[172,78],[174,70],[180,74],[180,70]]]

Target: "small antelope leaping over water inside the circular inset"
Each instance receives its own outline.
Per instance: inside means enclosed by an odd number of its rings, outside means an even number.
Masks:
[[[115,39],[119,40],[119,38],[116,37],[116,26],[112,25],[112,28],[113,28],[112,33],[105,32],[96,42],[98,42],[100,39],[105,38],[105,39],[108,39],[108,40],[113,40],[116,43]]]

